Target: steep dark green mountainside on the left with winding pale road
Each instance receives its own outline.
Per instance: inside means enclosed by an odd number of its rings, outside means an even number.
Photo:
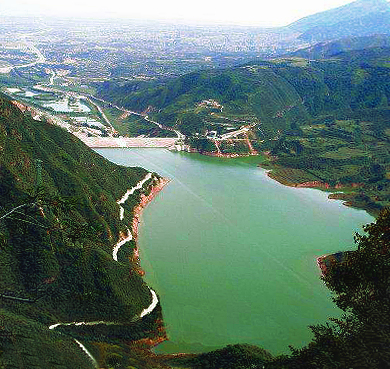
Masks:
[[[0,367],[91,368],[75,339],[102,359],[158,335],[159,307],[139,318],[152,295],[126,256],[134,241],[113,260],[157,175],[129,196],[122,220],[117,200],[147,171],[110,163],[3,96],[0,152]],[[55,326],[72,322],[100,323]]]

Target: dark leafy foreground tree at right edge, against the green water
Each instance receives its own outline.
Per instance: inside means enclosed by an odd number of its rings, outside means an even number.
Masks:
[[[390,209],[384,209],[375,223],[356,234],[357,250],[346,254],[324,276],[336,293],[337,306],[366,318],[372,311],[390,312]]]

